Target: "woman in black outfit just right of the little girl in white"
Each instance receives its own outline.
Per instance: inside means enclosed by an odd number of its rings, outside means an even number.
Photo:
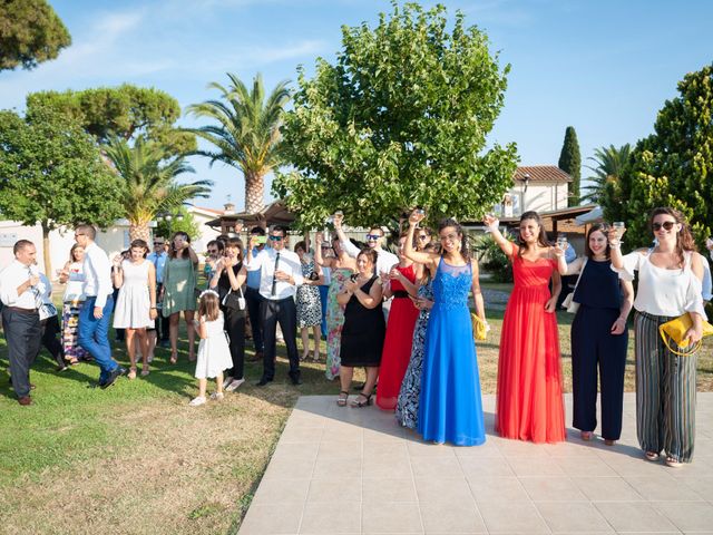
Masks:
[[[233,368],[225,372],[223,388],[226,392],[232,392],[245,382],[243,369],[245,366],[246,308],[242,286],[247,278],[247,270],[243,265],[243,244],[240,239],[228,239],[223,254],[223,257],[215,263],[209,285],[211,289],[218,292],[221,311],[225,321],[224,329],[228,337]],[[233,295],[228,298],[229,293]]]

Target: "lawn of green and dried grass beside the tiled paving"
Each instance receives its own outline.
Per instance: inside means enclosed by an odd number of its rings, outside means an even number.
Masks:
[[[492,309],[488,318],[492,331],[478,343],[478,361],[482,390],[492,393],[502,312]],[[558,313],[558,321],[568,391],[572,314]],[[114,347],[128,366],[123,346]],[[324,378],[323,362],[303,364],[304,385],[290,385],[281,346],[273,383],[254,387],[262,364],[247,362],[237,392],[191,408],[197,385],[186,356],[185,340],[176,366],[158,349],[147,378],[121,378],[101,390],[91,388],[95,364],[59,373],[42,352],[31,374],[35,403],[20,407],[0,339],[0,532],[235,533],[297,397],[336,397],[339,387]],[[699,357],[699,390],[713,390],[710,343]]]

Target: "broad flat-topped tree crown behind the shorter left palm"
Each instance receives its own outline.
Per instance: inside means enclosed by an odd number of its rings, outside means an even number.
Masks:
[[[124,84],[81,91],[39,91],[27,97],[30,116],[36,107],[71,115],[101,144],[116,136],[150,139],[172,156],[196,148],[195,136],[175,125],[180,118],[178,100],[158,89]]]

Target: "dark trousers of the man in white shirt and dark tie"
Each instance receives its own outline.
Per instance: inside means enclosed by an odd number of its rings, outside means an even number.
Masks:
[[[275,331],[277,323],[287,347],[290,359],[290,377],[300,377],[300,356],[297,353],[297,308],[294,299],[286,298],[279,301],[263,299],[261,305],[263,334],[265,337],[265,352],[263,356],[263,379],[272,381],[275,377]]]

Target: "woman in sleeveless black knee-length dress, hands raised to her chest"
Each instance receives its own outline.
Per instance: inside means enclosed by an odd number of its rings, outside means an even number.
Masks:
[[[379,374],[387,325],[381,310],[381,284],[379,276],[374,275],[375,263],[377,252],[362,250],[356,256],[358,273],[344,283],[344,289],[336,295],[339,304],[345,307],[340,349],[342,390],[336,399],[340,407],[346,405],[355,366],[367,368],[367,381],[352,407],[371,403],[371,391]]]

